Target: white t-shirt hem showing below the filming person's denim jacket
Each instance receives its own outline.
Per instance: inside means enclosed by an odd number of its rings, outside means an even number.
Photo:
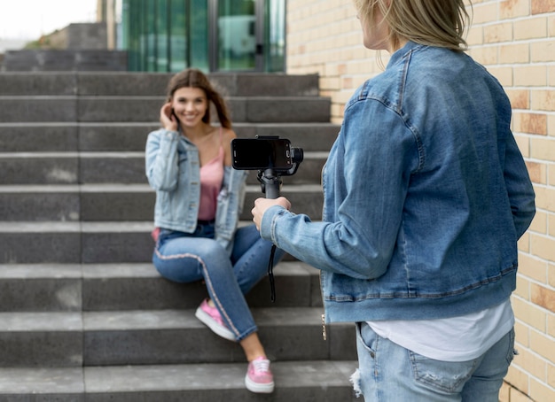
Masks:
[[[436,320],[368,321],[381,337],[429,359],[466,361],[489,350],[514,326],[511,301],[478,313]]]

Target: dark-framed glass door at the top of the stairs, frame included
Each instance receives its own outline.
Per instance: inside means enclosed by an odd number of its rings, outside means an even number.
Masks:
[[[263,71],[264,0],[210,0],[210,70]]]

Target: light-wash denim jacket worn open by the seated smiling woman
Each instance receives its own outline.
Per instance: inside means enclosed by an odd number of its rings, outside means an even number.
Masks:
[[[200,199],[199,151],[176,131],[153,131],[146,140],[145,170],[156,190],[154,225],[192,233],[197,228]],[[225,166],[215,215],[215,240],[231,253],[245,197],[245,171]]]

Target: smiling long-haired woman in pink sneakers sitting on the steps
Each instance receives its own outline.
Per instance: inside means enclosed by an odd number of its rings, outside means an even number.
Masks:
[[[210,124],[210,108],[220,127]],[[238,342],[249,362],[245,383],[272,392],[270,360],[244,295],[266,273],[271,243],[254,225],[238,228],[246,172],[231,168],[236,137],[223,97],[199,70],[177,73],[160,109],[162,128],[146,142],[146,176],[156,190],[152,262],[174,282],[204,280],[209,299],[197,318]],[[283,255],[276,253],[276,260]]]

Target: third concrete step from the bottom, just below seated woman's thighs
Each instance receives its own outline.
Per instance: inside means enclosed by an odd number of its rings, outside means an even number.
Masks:
[[[282,260],[274,267],[277,298],[262,278],[246,296],[252,307],[322,305],[315,268]],[[207,298],[202,282],[175,283],[152,263],[0,265],[0,312],[99,312],[192,309]]]

